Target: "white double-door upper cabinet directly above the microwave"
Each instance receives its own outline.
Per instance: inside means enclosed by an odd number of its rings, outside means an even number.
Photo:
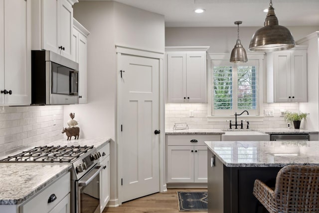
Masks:
[[[73,8],[78,0],[32,0],[32,49],[72,60]]]

